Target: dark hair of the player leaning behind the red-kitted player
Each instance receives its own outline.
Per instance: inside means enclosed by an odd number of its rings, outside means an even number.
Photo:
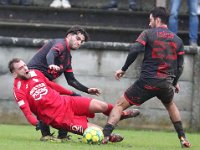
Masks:
[[[66,36],[70,33],[78,34],[79,32],[84,35],[85,41],[87,42],[89,40],[89,34],[85,31],[85,29],[78,25],[72,26],[69,30],[67,30]]]

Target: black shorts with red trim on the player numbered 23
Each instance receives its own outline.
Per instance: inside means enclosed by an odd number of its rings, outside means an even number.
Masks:
[[[124,97],[131,105],[141,105],[153,97],[157,97],[162,103],[168,104],[172,101],[173,96],[174,91],[171,84],[153,80],[151,85],[142,80],[137,80],[124,93]]]

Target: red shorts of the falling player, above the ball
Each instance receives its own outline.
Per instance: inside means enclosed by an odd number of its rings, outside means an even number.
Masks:
[[[62,96],[64,107],[62,112],[51,122],[57,129],[66,129],[69,132],[82,135],[88,127],[88,117],[93,118],[94,113],[89,112],[91,98],[78,96]]]

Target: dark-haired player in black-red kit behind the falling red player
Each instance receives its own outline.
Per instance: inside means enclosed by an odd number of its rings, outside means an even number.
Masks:
[[[29,69],[37,69],[49,79],[54,80],[64,74],[68,84],[88,94],[99,95],[98,88],[88,88],[76,80],[71,66],[71,50],[79,49],[83,42],[88,41],[88,33],[80,26],[71,27],[63,39],[53,39],[46,43],[29,61]],[[74,93],[74,96],[79,94]],[[52,138],[50,128],[44,124],[41,129],[41,140]],[[66,131],[59,130],[58,138],[66,139]]]

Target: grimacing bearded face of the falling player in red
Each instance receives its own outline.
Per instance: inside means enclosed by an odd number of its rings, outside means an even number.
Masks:
[[[14,63],[14,68],[13,75],[15,77],[24,80],[27,80],[31,77],[27,65],[22,60],[20,60],[18,63]]]

